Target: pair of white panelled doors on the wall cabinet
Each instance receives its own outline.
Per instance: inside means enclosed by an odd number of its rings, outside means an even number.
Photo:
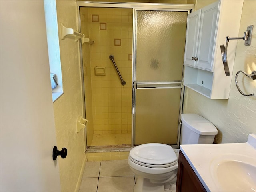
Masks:
[[[219,2],[188,15],[184,65],[212,71]]]

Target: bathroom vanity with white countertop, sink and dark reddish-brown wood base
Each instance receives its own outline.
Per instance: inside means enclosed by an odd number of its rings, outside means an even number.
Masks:
[[[246,143],[180,146],[176,192],[255,190],[255,134]]]

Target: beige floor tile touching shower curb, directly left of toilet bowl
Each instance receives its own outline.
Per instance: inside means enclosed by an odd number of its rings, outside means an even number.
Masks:
[[[100,177],[134,176],[127,160],[102,161]]]

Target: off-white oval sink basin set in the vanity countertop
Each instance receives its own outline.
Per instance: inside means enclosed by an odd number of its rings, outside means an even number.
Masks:
[[[217,176],[225,191],[256,191],[256,167],[251,164],[235,160],[221,162]]]

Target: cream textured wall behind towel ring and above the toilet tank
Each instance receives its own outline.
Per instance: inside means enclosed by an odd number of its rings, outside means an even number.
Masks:
[[[239,36],[243,36],[248,25],[256,26],[255,18],[256,1],[244,0]],[[246,142],[248,134],[256,133],[256,97],[242,96],[238,92],[234,78],[239,70],[249,74],[256,70],[255,29],[250,46],[244,46],[244,41],[238,40],[228,100],[210,100],[186,88],[184,112],[196,113],[210,120],[218,128],[218,143]],[[256,93],[256,81],[243,74],[238,76],[238,84],[246,94]]]

